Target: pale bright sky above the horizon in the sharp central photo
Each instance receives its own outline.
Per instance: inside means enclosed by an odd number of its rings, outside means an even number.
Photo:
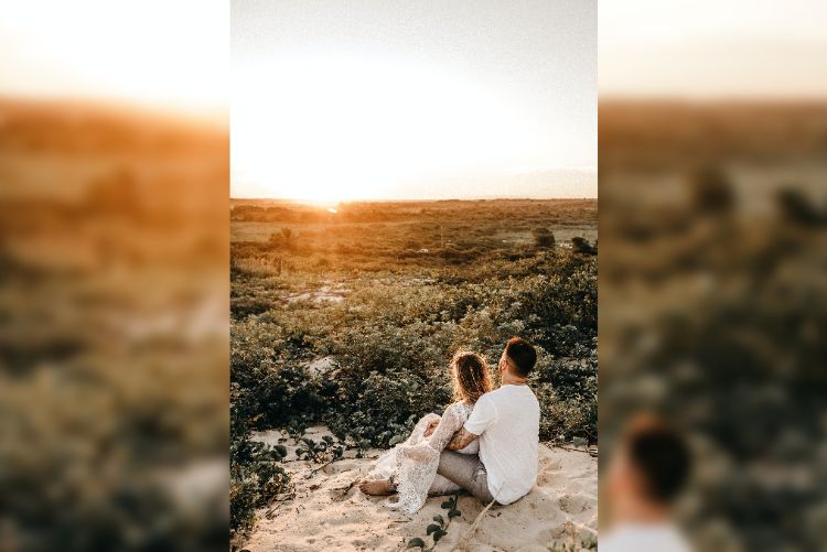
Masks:
[[[597,196],[597,0],[232,2],[232,195]]]

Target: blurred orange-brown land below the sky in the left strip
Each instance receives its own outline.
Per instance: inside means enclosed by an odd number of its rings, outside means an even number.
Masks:
[[[0,100],[3,550],[226,546],[227,134]]]

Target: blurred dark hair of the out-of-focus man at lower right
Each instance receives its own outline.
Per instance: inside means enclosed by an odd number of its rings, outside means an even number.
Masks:
[[[681,435],[663,424],[633,431],[626,437],[629,458],[643,478],[649,498],[672,502],[689,478],[689,446]]]

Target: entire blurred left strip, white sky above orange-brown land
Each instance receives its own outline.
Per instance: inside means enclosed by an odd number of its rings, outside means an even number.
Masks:
[[[228,6],[2,13],[0,550],[226,549]]]

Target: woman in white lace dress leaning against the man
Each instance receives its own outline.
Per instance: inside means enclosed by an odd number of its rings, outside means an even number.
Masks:
[[[460,488],[437,474],[439,455],[454,432],[471,415],[476,400],[491,391],[491,374],[485,360],[476,353],[460,350],[451,360],[454,399],[457,402],[445,409],[440,418],[427,414],[417,422],[410,436],[383,454],[367,477],[359,481],[359,489],[367,495],[399,494],[391,508],[409,513],[419,510],[428,495],[445,495]],[[426,430],[436,430],[428,436]],[[462,454],[477,454],[476,441],[459,451]]]

